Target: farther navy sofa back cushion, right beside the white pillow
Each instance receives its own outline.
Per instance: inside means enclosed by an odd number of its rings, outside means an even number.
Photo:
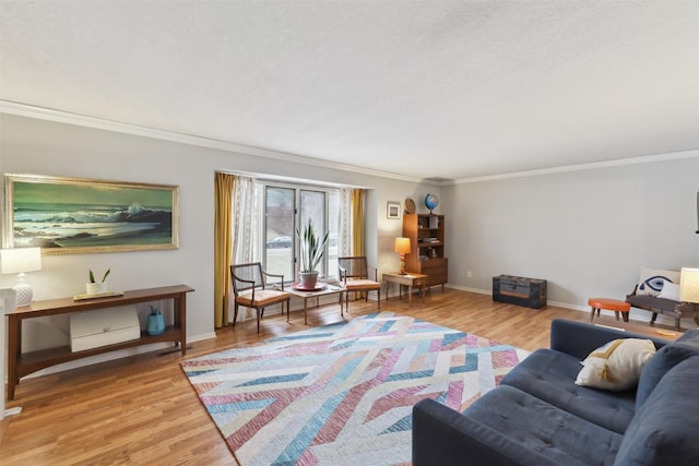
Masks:
[[[687,331],[675,342],[659,349],[641,371],[636,396],[636,409],[638,410],[645,403],[645,399],[667,371],[692,356],[699,356],[699,330]]]

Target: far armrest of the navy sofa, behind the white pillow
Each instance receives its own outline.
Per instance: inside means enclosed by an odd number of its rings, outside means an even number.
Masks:
[[[668,343],[663,338],[654,338],[585,322],[554,319],[550,323],[550,349],[565,353],[580,360],[587,358],[592,350],[617,338],[650,339],[656,349]]]

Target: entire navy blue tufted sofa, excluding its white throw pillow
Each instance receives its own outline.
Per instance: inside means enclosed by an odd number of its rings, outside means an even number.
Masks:
[[[592,350],[635,335],[555,320],[538,349],[465,411],[413,407],[413,465],[699,465],[699,330],[645,363],[627,392],[574,384]]]

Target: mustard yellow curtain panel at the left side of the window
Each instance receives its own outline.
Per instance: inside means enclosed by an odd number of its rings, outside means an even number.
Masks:
[[[235,179],[235,176],[228,174],[214,175],[214,326],[216,328],[228,323]]]

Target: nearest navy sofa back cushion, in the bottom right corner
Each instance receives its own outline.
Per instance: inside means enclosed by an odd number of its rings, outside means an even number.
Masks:
[[[615,465],[699,464],[699,357],[667,371],[624,435]]]

